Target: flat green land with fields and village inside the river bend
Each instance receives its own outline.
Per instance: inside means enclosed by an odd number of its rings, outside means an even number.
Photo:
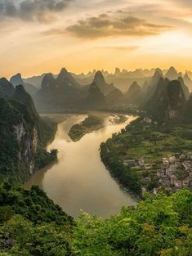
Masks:
[[[102,143],[100,156],[109,172],[131,191],[172,193],[184,184],[191,186],[191,138],[189,124],[137,119]]]

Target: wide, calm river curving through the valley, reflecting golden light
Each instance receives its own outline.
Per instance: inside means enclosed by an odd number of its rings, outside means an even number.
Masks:
[[[129,116],[124,124],[111,124],[105,117],[104,128],[86,134],[80,141],[71,141],[69,129],[86,117],[70,115],[58,125],[56,137],[48,146],[48,150],[59,150],[58,160],[34,173],[25,188],[40,186],[74,218],[78,217],[80,210],[106,218],[118,213],[123,204],[134,204],[135,199],[118,185],[101,162],[100,143],[136,117]]]

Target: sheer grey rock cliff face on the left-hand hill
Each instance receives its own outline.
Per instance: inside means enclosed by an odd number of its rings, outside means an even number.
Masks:
[[[0,98],[0,173],[25,181],[34,172],[38,132],[16,106]]]

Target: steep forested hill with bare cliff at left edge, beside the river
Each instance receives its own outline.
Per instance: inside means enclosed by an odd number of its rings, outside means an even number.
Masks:
[[[24,182],[35,170],[56,159],[44,146],[56,124],[40,118],[22,85],[0,79],[0,177]]]

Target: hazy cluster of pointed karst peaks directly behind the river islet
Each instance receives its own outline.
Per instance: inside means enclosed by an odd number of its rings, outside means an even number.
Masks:
[[[113,83],[106,83],[100,71],[96,72],[92,83],[81,85],[63,68],[57,78],[45,74],[41,89],[33,99],[38,110],[42,111],[103,109],[110,104],[108,95],[114,90],[118,89]]]

